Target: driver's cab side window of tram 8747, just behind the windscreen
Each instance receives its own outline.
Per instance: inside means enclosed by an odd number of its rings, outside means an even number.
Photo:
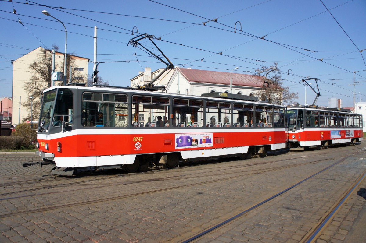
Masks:
[[[53,126],[62,126],[65,122],[66,126],[72,126],[73,122],[73,95],[71,90],[60,88],[57,91],[55,114],[53,116]]]

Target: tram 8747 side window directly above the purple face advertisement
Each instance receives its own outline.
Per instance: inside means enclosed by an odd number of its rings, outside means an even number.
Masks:
[[[203,101],[191,99],[173,99],[173,126],[202,127]]]

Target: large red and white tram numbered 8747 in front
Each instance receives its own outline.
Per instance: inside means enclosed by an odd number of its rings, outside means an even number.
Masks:
[[[57,167],[53,174],[85,167],[134,172],[159,164],[173,168],[179,160],[266,156],[287,145],[285,111],[253,96],[226,93],[55,86],[43,92],[37,147],[43,161]]]

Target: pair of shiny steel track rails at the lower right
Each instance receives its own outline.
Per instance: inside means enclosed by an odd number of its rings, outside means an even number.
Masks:
[[[337,164],[340,164],[341,162],[344,162],[344,160],[348,159],[349,157],[355,155],[356,153],[359,153],[361,151],[365,151],[366,148],[363,148],[355,153],[352,153],[351,155],[347,155],[339,160],[337,160],[337,162],[327,166],[326,168],[318,171],[318,172],[315,172],[314,174],[308,176],[307,178],[291,185],[290,187],[287,187],[286,189],[280,191],[279,193],[276,193],[268,198],[266,198],[265,200],[262,200],[261,202],[258,202],[257,204],[251,206],[250,208],[247,208],[245,210],[243,210],[242,212],[238,213],[238,214],[235,214],[234,216],[226,219],[226,220],[223,220],[221,221],[220,223],[210,227],[210,228],[207,228],[193,236],[191,236],[190,238],[186,239],[186,240],[183,240],[181,241],[181,243],[189,243],[189,242],[193,242],[195,240],[199,240],[201,239],[203,236],[213,232],[213,231],[216,231],[217,229],[221,228],[221,227],[224,227],[225,225],[227,224],[230,224],[232,222],[234,222],[235,220],[238,220],[244,216],[246,216],[248,213],[250,213],[251,211],[253,211],[254,209],[258,209],[260,206],[266,204],[267,202],[270,202],[274,199],[276,199],[277,197],[279,197],[280,195],[286,193],[287,191],[295,188],[296,186],[298,185],[301,185],[302,183],[308,181],[309,179],[313,178],[314,176],[316,175],[319,175],[321,174],[322,172],[332,168],[333,166],[336,166]],[[326,215],[318,222],[317,225],[315,225],[315,227],[309,231],[307,233],[307,235],[303,238],[303,240],[301,240],[300,243],[311,243],[311,242],[314,242],[314,239],[315,239],[315,236],[319,235],[321,230],[325,227],[326,224],[328,224],[329,220],[331,219],[332,216],[334,216],[334,214],[337,212],[337,210],[339,209],[339,207],[341,206],[341,204],[349,197],[349,195],[351,194],[352,191],[355,190],[356,186],[365,178],[366,176],[366,170],[363,171],[362,175],[359,176],[359,178],[356,180],[355,183],[353,183],[353,185],[350,187],[350,189],[348,189],[344,194],[343,196],[333,205],[333,207],[328,210],[328,212],[326,213]]]

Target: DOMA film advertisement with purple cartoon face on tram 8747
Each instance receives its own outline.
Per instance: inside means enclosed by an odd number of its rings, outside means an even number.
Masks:
[[[175,148],[204,148],[213,146],[212,133],[176,133]]]

